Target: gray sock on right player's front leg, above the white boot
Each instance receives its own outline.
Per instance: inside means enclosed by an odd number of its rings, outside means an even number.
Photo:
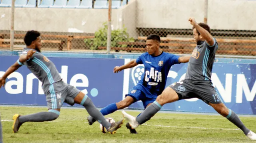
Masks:
[[[146,109],[138,117],[136,117],[136,121],[139,124],[142,124],[147,119],[153,117],[161,108],[162,106],[156,101],[154,101],[154,103],[146,107]]]

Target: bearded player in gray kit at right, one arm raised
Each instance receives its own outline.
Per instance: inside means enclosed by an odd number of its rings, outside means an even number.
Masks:
[[[188,63],[185,79],[166,87],[156,101],[147,107],[140,116],[133,117],[122,111],[131,127],[135,129],[144,121],[155,115],[166,103],[172,103],[181,99],[198,98],[212,106],[220,115],[240,128],[244,134],[252,140],[256,140],[256,134],[250,131],[232,110],[222,103],[216,89],[212,85],[211,75],[215,53],[218,43],[211,36],[210,27],[204,23],[196,23],[194,18],[189,18],[193,26],[194,39],[197,46],[194,49]]]

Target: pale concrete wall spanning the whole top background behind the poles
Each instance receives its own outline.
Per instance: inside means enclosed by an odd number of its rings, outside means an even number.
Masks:
[[[256,30],[256,1],[209,0],[208,5],[212,29]],[[0,30],[10,30],[10,12],[0,8]],[[204,0],[131,0],[112,10],[112,27],[124,25],[136,37],[136,27],[191,28],[190,16],[204,21]],[[94,33],[107,20],[107,9],[15,8],[14,29]]]

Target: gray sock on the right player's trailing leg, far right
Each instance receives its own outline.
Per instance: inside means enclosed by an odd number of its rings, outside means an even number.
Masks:
[[[245,135],[249,133],[249,129],[244,126],[242,121],[239,119],[239,117],[234,113],[232,110],[229,109],[229,114],[226,117],[229,121],[231,121],[233,124],[235,124],[237,127],[239,127]]]

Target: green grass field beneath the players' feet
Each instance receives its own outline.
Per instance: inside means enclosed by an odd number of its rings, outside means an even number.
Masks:
[[[46,107],[0,107],[4,143],[246,143],[250,141],[242,131],[220,115],[157,113],[145,125],[130,134],[125,124],[116,134],[103,134],[99,123],[88,125],[85,109],[61,109],[55,121],[24,123],[18,133],[12,133],[12,115],[27,115],[46,111]],[[127,111],[131,115],[139,112]],[[120,111],[107,115],[116,121]],[[256,117],[241,117],[244,124],[256,131]],[[125,122],[126,123],[126,122]]]

